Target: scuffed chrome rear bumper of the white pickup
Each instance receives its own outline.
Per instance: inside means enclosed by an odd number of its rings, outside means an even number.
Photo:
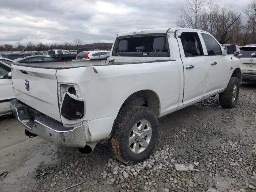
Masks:
[[[13,114],[29,132],[58,147],[81,147],[86,145],[84,124],[67,128],[62,124],[14,99],[10,101]]]

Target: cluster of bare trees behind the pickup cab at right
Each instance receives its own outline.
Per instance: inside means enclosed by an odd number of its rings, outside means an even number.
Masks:
[[[213,0],[186,0],[176,24],[210,32],[220,44],[256,44],[256,0],[243,13]]]

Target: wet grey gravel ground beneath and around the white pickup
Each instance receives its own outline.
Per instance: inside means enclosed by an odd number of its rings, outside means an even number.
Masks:
[[[84,155],[38,140],[36,150],[50,156],[50,161],[12,184],[10,176],[0,179],[0,191],[55,192],[80,182],[65,192],[256,191],[256,83],[241,85],[233,109],[220,107],[216,96],[164,116],[159,124],[154,154],[134,166],[112,158],[107,141],[98,143],[93,154]],[[194,168],[179,171],[175,164]]]

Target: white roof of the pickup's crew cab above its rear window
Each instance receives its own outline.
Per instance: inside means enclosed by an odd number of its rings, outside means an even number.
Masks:
[[[140,30],[133,30],[133,31],[128,31],[128,32],[122,32],[122,33],[118,33],[117,37],[121,37],[121,36],[130,36],[130,35],[134,35],[134,34],[154,34],[154,33],[174,33],[176,30],[195,30],[195,31],[201,31],[201,32],[206,32],[203,30],[199,30],[199,29],[190,29],[190,28],[155,28],[155,29],[140,29]]]

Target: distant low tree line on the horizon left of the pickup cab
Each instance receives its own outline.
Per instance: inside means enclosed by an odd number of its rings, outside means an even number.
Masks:
[[[33,42],[29,41],[26,44],[16,42],[14,46],[12,44],[0,45],[0,51],[46,51],[50,49],[77,50],[81,47],[94,47],[99,48],[100,50],[110,50],[112,43],[96,42],[92,44],[84,44],[80,39],[75,39],[73,42],[64,42],[64,44],[43,44],[42,42],[33,44]]]

